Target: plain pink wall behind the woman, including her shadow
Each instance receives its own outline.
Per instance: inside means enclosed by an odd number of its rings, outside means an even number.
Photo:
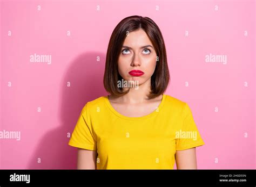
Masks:
[[[150,17],[163,33],[166,94],[190,105],[205,141],[198,169],[256,168],[255,1],[1,1],[0,12],[0,131],[21,132],[20,141],[0,139],[1,169],[76,168],[67,133],[86,102],[107,95],[110,35],[132,15]],[[51,64],[30,62],[35,53],[51,55]],[[227,55],[227,64],[205,62],[210,53]]]

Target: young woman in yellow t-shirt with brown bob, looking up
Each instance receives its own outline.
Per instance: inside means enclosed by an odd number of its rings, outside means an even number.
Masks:
[[[104,87],[87,102],[69,145],[78,169],[197,169],[204,145],[187,103],[165,95],[169,69],[163,36],[148,17],[130,16],[114,28]]]

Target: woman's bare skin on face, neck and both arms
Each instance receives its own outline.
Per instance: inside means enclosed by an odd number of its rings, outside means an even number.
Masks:
[[[152,47],[143,47],[151,45]],[[127,48],[129,47],[129,48]],[[163,95],[147,99],[150,91],[151,76],[156,68],[156,51],[142,29],[127,35],[122,52],[118,58],[118,72],[126,81],[138,81],[139,89],[130,88],[129,93],[122,97],[109,96],[112,107],[127,117],[141,117],[152,113],[161,103]],[[144,75],[135,77],[129,74],[133,69],[142,70]],[[124,90],[129,88],[124,88]],[[177,150],[177,169],[197,169],[196,148]],[[77,169],[96,169],[97,151],[78,148]]]

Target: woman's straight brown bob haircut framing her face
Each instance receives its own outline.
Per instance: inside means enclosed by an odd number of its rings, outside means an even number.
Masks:
[[[103,83],[105,90],[113,96],[119,97],[129,92],[129,90],[123,91],[123,88],[118,88],[117,86],[118,81],[122,81],[123,79],[118,73],[117,62],[128,31],[132,32],[140,28],[146,32],[158,56],[156,69],[151,76],[151,91],[147,97],[152,99],[163,94],[169,85],[170,74],[167,64],[166,49],[163,35],[159,27],[148,17],[130,16],[121,20],[114,28],[110,37],[109,46],[107,47]]]

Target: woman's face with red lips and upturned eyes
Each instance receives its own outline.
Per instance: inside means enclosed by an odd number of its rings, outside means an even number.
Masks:
[[[156,68],[156,57],[156,51],[144,30],[130,32],[118,58],[118,72],[124,80],[138,81],[141,85],[150,81]],[[132,73],[131,70],[140,70],[144,74]]]

